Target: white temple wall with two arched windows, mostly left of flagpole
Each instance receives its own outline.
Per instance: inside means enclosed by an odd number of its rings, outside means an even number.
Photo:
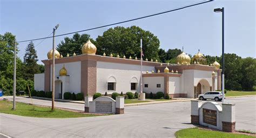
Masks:
[[[154,66],[143,66],[143,73],[146,71],[155,71]],[[116,79],[116,90],[107,91],[107,81],[109,78]],[[137,84],[137,92],[140,92],[140,65],[119,64],[119,63],[105,63],[97,61],[97,92],[105,94],[112,94],[113,92],[123,93],[136,92],[131,91],[130,81],[136,78],[139,82]],[[133,79],[134,80],[134,79]]]

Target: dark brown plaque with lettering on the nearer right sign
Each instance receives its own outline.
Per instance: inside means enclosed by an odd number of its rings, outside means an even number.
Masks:
[[[217,126],[217,111],[203,108],[204,123]]]

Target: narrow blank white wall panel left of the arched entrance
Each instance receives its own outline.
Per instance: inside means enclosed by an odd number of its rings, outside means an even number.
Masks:
[[[180,93],[180,77],[169,77],[169,94]]]

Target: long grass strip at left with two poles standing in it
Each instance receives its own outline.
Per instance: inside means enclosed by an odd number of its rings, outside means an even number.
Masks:
[[[32,106],[22,102],[16,102],[16,110],[12,110],[12,101],[0,100],[0,113],[15,114],[21,116],[31,116],[37,118],[79,118],[99,116],[96,114],[83,114],[78,112],[55,109],[51,112],[51,107]]]

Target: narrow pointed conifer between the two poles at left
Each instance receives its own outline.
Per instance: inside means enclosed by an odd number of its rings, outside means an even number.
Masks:
[[[25,64],[25,72],[24,78],[25,80],[33,80],[34,74],[39,73],[39,67],[37,65],[37,54],[35,50],[35,46],[33,42],[30,42],[26,47],[26,53],[24,56],[24,64]]]

